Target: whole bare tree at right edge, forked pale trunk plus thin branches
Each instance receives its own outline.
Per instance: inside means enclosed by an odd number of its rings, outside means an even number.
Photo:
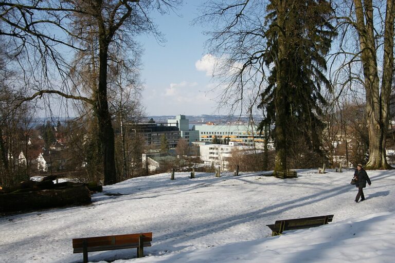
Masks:
[[[341,3],[341,2],[340,2]],[[346,68],[349,73],[343,84],[362,84],[366,98],[366,119],[369,133],[370,169],[392,168],[386,160],[386,138],[389,125],[389,103],[394,76],[394,18],[395,1],[353,0],[336,8],[339,27],[343,30],[339,53],[352,53]],[[343,12],[343,13],[342,13]],[[359,48],[350,50],[347,40],[353,41],[350,29],[356,32]],[[382,58],[380,56],[382,55]],[[362,64],[362,74],[352,71],[354,64]],[[381,65],[379,66],[379,64]],[[357,70],[360,70],[358,67]]]

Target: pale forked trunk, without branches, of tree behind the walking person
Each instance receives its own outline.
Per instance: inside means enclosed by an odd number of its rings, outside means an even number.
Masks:
[[[368,169],[389,169],[386,160],[386,139],[389,122],[389,96],[393,76],[393,23],[394,0],[387,0],[385,32],[383,79],[380,89],[380,79],[376,55],[376,45],[373,23],[373,5],[371,0],[354,0],[356,14],[356,30],[360,40],[361,61],[364,72],[364,87],[366,90],[366,113],[369,132],[369,161]]]

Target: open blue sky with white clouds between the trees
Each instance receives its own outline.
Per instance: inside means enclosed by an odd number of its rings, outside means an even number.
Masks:
[[[208,36],[203,35],[201,26],[191,25],[201,3],[186,1],[177,11],[179,16],[153,14],[165,34],[165,44],[158,44],[153,36],[141,37],[145,49],[141,59],[145,87],[142,104],[148,116],[218,113],[212,101],[215,95],[209,92],[214,86],[207,73],[212,65],[204,59]]]

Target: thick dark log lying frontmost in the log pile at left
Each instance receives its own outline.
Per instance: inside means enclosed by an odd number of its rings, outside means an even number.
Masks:
[[[0,195],[0,212],[28,211],[88,203],[91,203],[91,192],[85,186],[9,193]]]

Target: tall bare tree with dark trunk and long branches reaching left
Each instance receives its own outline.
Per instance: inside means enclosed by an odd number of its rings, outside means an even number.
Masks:
[[[180,2],[181,0],[11,0],[0,3],[1,20],[7,26],[7,30],[2,30],[0,34],[19,42],[18,47],[22,47],[22,50],[32,43],[33,49],[40,51],[38,60],[44,64],[45,78],[50,77],[46,64],[47,57],[51,58],[52,64],[55,64],[64,80],[67,78],[68,64],[59,55],[60,50],[57,52],[57,45],[86,51],[86,45],[81,43],[95,43],[92,50],[87,50],[98,57],[97,86],[92,92],[86,95],[74,85],[62,90],[39,87],[37,92],[33,93],[29,89],[27,93],[30,96],[22,98],[22,101],[41,97],[44,93],[55,93],[91,105],[99,126],[104,184],[116,182],[114,129],[107,94],[109,51],[116,43],[127,44],[138,33],[152,32],[158,35],[156,26],[148,14],[152,9],[166,13]],[[47,32],[51,31],[48,29],[54,27],[55,35],[48,34]],[[56,32],[60,33],[57,35]],[[25,35],[32,42],[26,41]],[[65,40],[65,37],[68,40]]]

